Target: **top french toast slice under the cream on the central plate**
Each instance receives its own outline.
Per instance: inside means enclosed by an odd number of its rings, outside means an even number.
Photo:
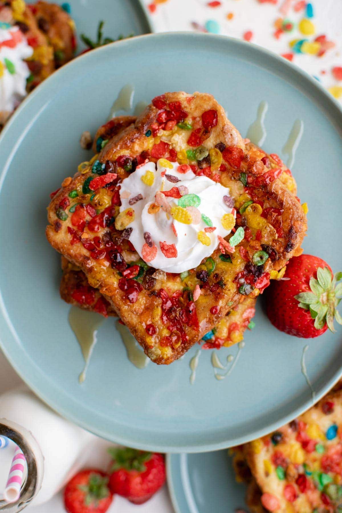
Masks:
[[[194,155],[198,148],[198,157],[206,154],[200,160]],[[195,174],[229,188],[239,209],[235,230],[244,230],[244,239],[235,248],[227,244],[231,234],[186,277],[157,272],[139,260],[125,232],[115,228],[118,184],[137,165],[161,158],[189,163]],[[105,179],[98,176],[99,168],[104,168]],[[265,288],[270,271],[284,267],[299,250],[306,216],[277,180],[281,172],[267,170],[248,154],[242,137],[210,94],[166,93],[154,98],[134,125],[114,136],[97,158],[79,166],[74,179],[54,196],[47,238],[109,298],[146,354],[155,363],[169,364],[218,324],[241,295],[254,297]],[[94,182],[96,191],[91,187],[95,177],[100,179]],[[94,211],[98,213],[93,215]],[[130,253],[128,260],[123,261],[122,251]],[[267,253],[267,260],[256,270],[253,255],[260,251]],[[138,266],[139,273],[143,269],[143,284],[122,277],[127,266]],[[194,302],[196,285],[201,293]]]

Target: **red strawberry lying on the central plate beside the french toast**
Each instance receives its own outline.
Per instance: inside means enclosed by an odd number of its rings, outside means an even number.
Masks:
[[[318,337],[342,324],[336,307],[342,297],[342,272],[334,276],[322,259],[302,254],[286,266],[284,280],[273,281],[266,291],[267,315],[280,331],[294,337]]]

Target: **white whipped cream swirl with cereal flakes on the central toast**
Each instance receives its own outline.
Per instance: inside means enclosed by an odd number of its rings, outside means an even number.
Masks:
[[[166,272],[197,267],[235,224],[227,187],[165,159],[138,166],[120,185],[120,199],[119,215],[133,218],[127,229],[135,250]]]

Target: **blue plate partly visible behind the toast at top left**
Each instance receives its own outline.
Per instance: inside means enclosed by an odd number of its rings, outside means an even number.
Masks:
[[[27,4],[34,4],[28,0]],[[61,2],[58,2],[62,4]],[[70,16],[76,24],[77,53],[86,48],[81,34],[96,41],[97,27],[104,21],[104,36],[117,39],[119,35],[140,35],[151,32],[151,23],[145,7],[138,0],[69,0]]]

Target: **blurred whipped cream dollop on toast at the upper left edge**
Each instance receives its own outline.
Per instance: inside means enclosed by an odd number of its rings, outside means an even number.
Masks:
[[[0,23],[0,112],[12,112],[26,96],[30,70],[24,59],[32,53],[18,27]]]

